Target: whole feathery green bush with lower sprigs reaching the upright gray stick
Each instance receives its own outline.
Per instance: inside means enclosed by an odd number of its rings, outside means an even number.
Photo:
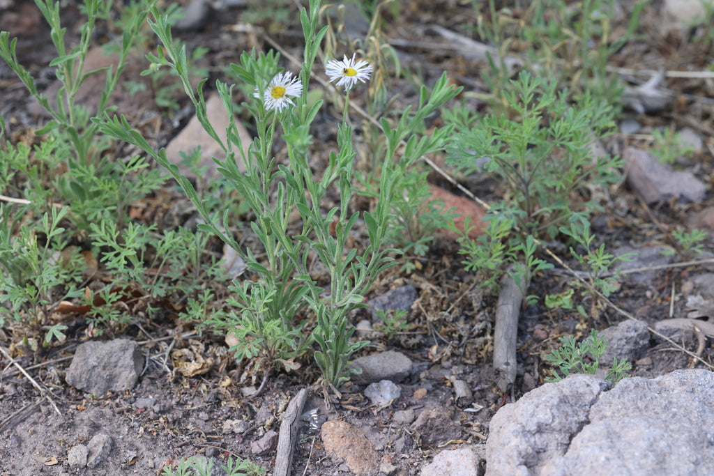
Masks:
[[[502,184],[504,200],[495,203],[486,218],[486,235],[473,241],[460,238],[466,270],[479,273],[484,285],[495,288],[509,263],[528,283],[529,273],[550,267],[535,257],[537,240],[552,240],[574,213],[587,216],[600,209],[595,201],[583,201],[586,184],[606,187],[619,180],[619,158],[593,158],[590,144],[613,128],[613,110],[595,102],[588,91],[571,106],[567,91],[556,91],[546,81],[521,71],[503,91],[510,116],[488,113],[476,116],[466,106],[445,113],[456,126],[448,161],[465,173],[481,171],[477,159]],[[513,117],[513,118],[511,118]]]

